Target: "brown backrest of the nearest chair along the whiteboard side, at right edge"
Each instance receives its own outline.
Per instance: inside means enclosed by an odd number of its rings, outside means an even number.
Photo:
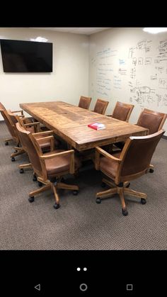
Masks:
[[[149,129],[149,134],[153,134],[161,130],[166,121],[166,113],[151,111],[144,108],[140,113],[137,125]]]

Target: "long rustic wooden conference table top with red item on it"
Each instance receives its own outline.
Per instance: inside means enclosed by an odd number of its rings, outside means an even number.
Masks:
[[[148,134],[145,128],[62,101],[21,103],[20,106],[79,151],[124,141],[132,135]],[[104,123],[106,128],[104,130],[88,128],[88,124],[94,122]]]

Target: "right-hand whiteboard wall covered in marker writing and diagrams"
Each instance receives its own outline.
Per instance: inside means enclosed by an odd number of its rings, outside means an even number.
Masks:
[[[134,104],[129,118],[137,123],[142,108],[167,113],[167,33],[145,33],[142,28],[111,28],[90,37],[89,94]],[[166,121],[167,122],[167,121]],[[167,135],[167,123],[163,126]]]

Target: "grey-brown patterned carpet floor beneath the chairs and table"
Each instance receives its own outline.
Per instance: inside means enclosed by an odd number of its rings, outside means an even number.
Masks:
[[[13,143],[4,145],[8,130],[0,123],[0,249],[1,250],[166,250],[167,248],[167,140],[161,139],[152,158],[155,169],[131,182],[131,188],[148,194],[142,205],[126,196],[129,215],[122,215],[115,195],[96,203],[101,174],[87,165],[79,176],[66,176],[79,185],[79,194],[60,190],[61,207],[53,208],[52,191],[28,202],[38,189],[32,171],[19,173],[26,155],[11,162]],[[107,189],[107,188],[106,188]]]

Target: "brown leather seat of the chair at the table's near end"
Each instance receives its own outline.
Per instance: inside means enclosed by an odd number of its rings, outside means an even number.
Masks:
[[[113,157],[120,158],[121,152],[112,153]],[[113,159],[109,159],[107,157],[100,157],[100,170],[110,176],[112,179],[115,179],[118,162],[115,162]]]

